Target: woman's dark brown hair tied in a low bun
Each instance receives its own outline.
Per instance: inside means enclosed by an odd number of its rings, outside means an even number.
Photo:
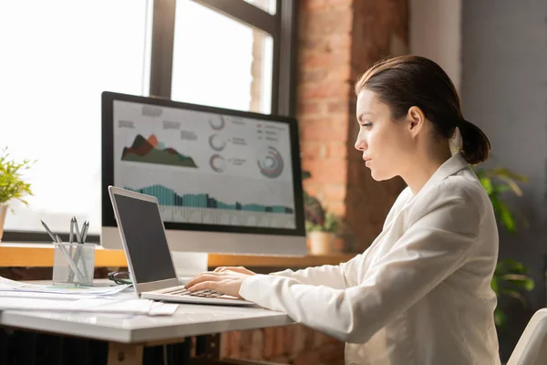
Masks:
[[[378,62],[356,82],[356,94],[369,89],[399,120],[411,107],[421,109],[438,136],[449,139],[461,132],[461,154],[470,164],[486,161],[490,141],[479,127],[463,119],[454,84],[438,64],[425,57],[401,56]]]

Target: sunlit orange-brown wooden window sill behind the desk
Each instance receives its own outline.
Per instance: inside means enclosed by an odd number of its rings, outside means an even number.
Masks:
[[[337,265],[348,261],[355,254],[270,256],[270,255],[209,255],[209,267],[252,266],[252,267],[306,267]],[[96,267],[127,266],[122,250],[107,250],[97,247]],[[9,244],[0,243],[0,267],[51,267],[53,266],[53,245],[50,244]]]

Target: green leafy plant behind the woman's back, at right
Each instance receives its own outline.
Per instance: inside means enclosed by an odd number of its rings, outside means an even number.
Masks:
[[[516,219],[509,206],[501,200],[501,194],[511,191],[517,196],[522,196],[521,188],[517,182],[526,183],[528,178],[502,168],[476,173],[490,197],[496,219],[509,233],[513,234],[517,229]],[[501,296],[514,297],[523,306],[526,306],[526,299],[522,296],[521,290],[532,291],[534,287],[532,277],[527,274],[528,269],[520,262],[513,259],[501,260],[496,266],[491,281],[491,287],[498,299]],[[494,311],[494,319],[498,328],[502,328],[507,320],[507,316],[500,306]]]

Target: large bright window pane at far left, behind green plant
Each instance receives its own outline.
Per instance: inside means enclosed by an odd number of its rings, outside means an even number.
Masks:
[[[143,94],[149,9],[147,0],[0,3],[0,148],[36,160],[26,173],[35,195],[28,207],[10,203],[6,230],[43,232],[42,219],[67,232],[76,215],[99,232],[100,95]]]

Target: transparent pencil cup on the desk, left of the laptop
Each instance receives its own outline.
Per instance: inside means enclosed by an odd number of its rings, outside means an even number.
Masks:
[[[53,285],[93,286],[96,245],[65,243],[54,243],[54,245]]]

